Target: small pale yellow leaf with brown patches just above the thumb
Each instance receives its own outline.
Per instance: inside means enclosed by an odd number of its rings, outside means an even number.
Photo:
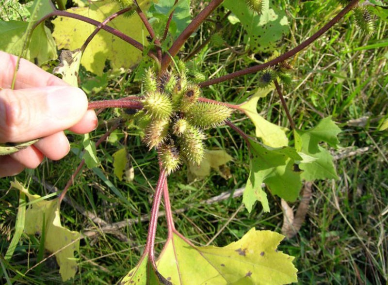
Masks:
[[[54,68],[54,74],[62,75],[62,79],[71,86],[78,87],[78,71],[81,63],[81,50],[63,50],[61,52],[60,63]]]

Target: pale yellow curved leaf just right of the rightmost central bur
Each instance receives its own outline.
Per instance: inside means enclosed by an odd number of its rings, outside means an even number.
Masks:
[[[260,138],[264,144],[271,147],[281,147],[288,145],[288,138],[286,136],[285,127],[279,127],[271,122],[268,122],[258,114],[257,105],[259,98],[265,97],[268,93],[274,90],[271,86],[261,89],[253,95],[248,101],[242,103],[239,107],[243,109],[245,114],[252,120],[256,127],[256,136]]]

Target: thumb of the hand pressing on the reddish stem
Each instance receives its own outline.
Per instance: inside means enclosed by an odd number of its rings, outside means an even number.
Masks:
[[[0,143],[19,143],[65,130],[81,120],[85,93],[70,86],[0,90]]]

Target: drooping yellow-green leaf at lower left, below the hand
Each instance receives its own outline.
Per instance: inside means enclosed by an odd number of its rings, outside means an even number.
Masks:
[[[42,200],[42,197],[39,195],[30,194],[17,181],[11,182],[11,186],[27,195],[31,203],[25,213],[25,233],[27,235],[41,233],[43,221],[45,221],[45,249],[50,253],[55,253],[62,280],[66,281],[73,278],[77,272],[74,251],[78,252],[80,249],[81,234],[70,231],[61,225],[59,199]]]

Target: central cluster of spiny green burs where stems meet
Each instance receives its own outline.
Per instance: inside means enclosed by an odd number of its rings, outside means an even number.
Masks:
[[[225,122],[232,110],[224,105],[198,101],[201,91],[190,82],[186,66],[159,76],[150,68],[144,80],[143,99],[147,124],[144,141],[156,148],[167,174],[183,161],[201,162],[206,138],[203,130]]]

